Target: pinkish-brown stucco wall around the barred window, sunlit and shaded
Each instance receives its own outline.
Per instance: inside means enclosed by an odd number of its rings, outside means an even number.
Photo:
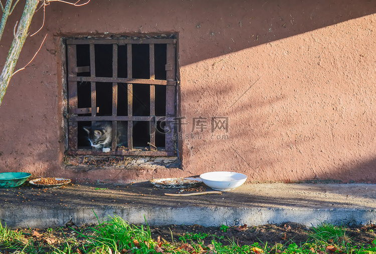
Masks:
[[[250,182],[376,182],[376,4],[352,2],[51,3],[18,67],[45,34],[47,40],[12,78],[0,107],[0,172],[116,182],[230,170]],[[8,22],[2,63],[21,11]],[[42,22],[41,9],[31,33]],[[167,32],[178,33],[178,111],[189,123],[179,147],[182,168],[65,168],[61,38]],[[208,129],[192,132],[200,116]],[[226,139],[223,130],[212,136],[210,119],[217,116],[229,117]]]

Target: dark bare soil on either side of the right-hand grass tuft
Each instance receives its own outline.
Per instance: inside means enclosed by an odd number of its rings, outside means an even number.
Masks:
[[[373,225],[352,226],[346,228],[345,235],[351,239],[353,245],[368,245],[375,239],[375,233],[373,232]],[[229,241],[234,241],[239,245],[251,245],[255,242],[259,242],[260,245],[275,243],[288,243],[295,242],[298,245],[308,240],[308,235],[311,231],[305,225],[285,222],[279,225],[266,224],[260,226],[238,226],[229,227],[226,231],[221,230],[220,227],[203,227],[201,225],[168,225],[168,226],[154,226],[150,227],[152,238],[157,238],[158,235],[163,237],[167,241],[178,241],[179,237],[183,235],[200,235],[208,234],[204,239],[204,245],[211,243],[215,238],[224,244]],[[187,240],[190,242],[191,240]],[[195,240],[195,242],[197,242]]]

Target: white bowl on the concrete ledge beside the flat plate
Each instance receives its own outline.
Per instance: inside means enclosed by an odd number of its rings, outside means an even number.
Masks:
[[[241,173],[228,171],[208,172],[200,175],[201,180],[214,190],[233,190],[242,185],[247,176]]]

